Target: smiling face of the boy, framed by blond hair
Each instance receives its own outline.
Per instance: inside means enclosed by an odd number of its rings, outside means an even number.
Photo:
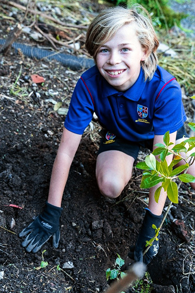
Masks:
[[[135,25],[125,24],[98,49],[96,62],[100,74],[119,91],[125,91],[136,81],[141,61],[146,59],[136,35]]]

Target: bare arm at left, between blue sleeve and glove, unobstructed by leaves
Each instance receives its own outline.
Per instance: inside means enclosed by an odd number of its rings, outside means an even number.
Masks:
[[[61,207],[63,191],[69,170],[81,140],[79,134],[63,129],[58,153],[52,169],[48,203]]]

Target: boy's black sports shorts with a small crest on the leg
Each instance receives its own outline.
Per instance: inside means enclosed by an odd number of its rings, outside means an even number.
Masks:
[[[103,137],[100,142],[98,154],[107,150],[119,150],[137,160],[137,155],[141,146],[148,148],[151,151],[153,150],[153,139],[141,142],[130,142],[128,140],[118,138],[113,133],[106,130],[102,131],[102,134]],[[185,127],[182,126],[177,130],[176,140],[182,138],[184,135],[189,137],[186,133]]]

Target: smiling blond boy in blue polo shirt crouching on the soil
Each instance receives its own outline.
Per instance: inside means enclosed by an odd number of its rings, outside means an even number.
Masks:
[[[82,74],[75,87],[44,212],[20,232],[20,237],[26,236],[22,242],[26,251],[39,251],[51,236],[53,246],[58,247],[63,190],[82,133],[94,112],[106,133],[98,150],[96,177],[100,192],[110,198],[119,196],[131,179],[140,146],[153,149],[156,143],[163,143],[168,130],[173,143],[186,135],[181,89],[171,74],[157,66],[157,47],[148,13],[138,13],[136,7],[106,9],[91,22],[86,48],[96,65]],[[170,155],[168,165],[171,160]],[[154,236],[152,224],[159,226],[166,200],[162,191],[156,203],[157,187],[150,188],[149,206],[134,252],[135,260],[146,264],[158,251],[155,242],[143,258],[146,240]]]

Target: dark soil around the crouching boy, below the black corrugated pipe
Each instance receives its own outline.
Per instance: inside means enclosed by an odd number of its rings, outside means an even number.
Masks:
[[[6,21],[3,25],[8,27]],[[49,241],[38,253],[27,253],[18,233],[47,200],[65,118],[54,110],[51,99],[67,108],[82,71],[67,70],[55,61],[31,60],[12,49],[0,57],[0,292],[103,292],[108,286],[105,271],[113,267],[117,253],[126,264],[132,262],[127,254],[135,245],[148,199],[148,190],[139,188],[141,172],[134,168],[131,182],[116,200],[100,195],[95,178],[100,126],[93,121],[94,128],[89,126],[83,134],[64,191],[59,248],[53,249]],[[33,73],[45,83],[36,88]],[[51,97],[49,89],[59,94]],[[190,121],[193,111],[187,97],[184,106]],[[141,150],[138,159],[145,155]],[[195,292],[194,215],[195,192],[182,184],[179,204],[173,205],[162,228],[160,250],[148,266],[156,284],[153,293]],[[174,219],[180,222],[174,224]],[[48,266],[39,269],[43,250]],[[67,262],[71,268],[66,268]]]

